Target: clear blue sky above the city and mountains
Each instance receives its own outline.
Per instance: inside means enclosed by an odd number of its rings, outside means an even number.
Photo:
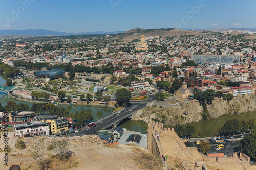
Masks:
[[[0,0],[0,3],[0,29],[123,31],[135,28],[136,21],[138,28],[256,28],[255,0]],[[200,9],[193,11],[191,7]]]

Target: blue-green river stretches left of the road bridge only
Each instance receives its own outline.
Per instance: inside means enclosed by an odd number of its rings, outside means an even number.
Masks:
[[[6,83],[7,77],[5,74],[0,73],[0,85],[3,85]],[[16,99],[11,98],[9,95],[7,95],[4,92],[0,92],[0,103],[2,106],[5,106],[8,101],[15,101],[16,103],[26,103],[29,105],[29,107],[32,106],[33,103],[30,102],[25,102],[25,101],[19,101]],[[104,106],[89,106],[89,105],[84,105],[84,106],[70,106],[70,105],[60,105],[59,107],[67,108],[70,113],[74,113],[75,111],[81,111],[81,110],[91,110],[93,120],[100,119],[102,117],[105,117],[113,112],[113,108],[110,107],[104,107]]]

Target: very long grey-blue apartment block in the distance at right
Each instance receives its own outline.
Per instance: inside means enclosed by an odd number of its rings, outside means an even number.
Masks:
[[[192,55],[196,63],[233,63],[240,61],[240,55]]]

